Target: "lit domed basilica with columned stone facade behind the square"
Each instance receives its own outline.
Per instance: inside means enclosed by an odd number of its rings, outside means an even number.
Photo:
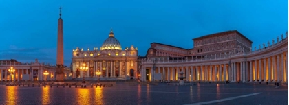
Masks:
[[[97,71],[101,72],[100,78],[137,77],[138,48],[131,45],[122,50],[112,30],[100,49],[83,51],[77,47],[72,55],[73,78],[96,78]],[[87,67],[84,71],[83,65]]]

